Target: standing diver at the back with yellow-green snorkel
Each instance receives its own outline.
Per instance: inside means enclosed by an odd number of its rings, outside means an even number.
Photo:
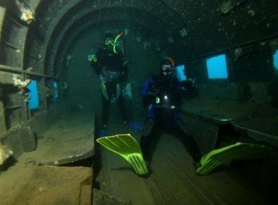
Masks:
[[[122,94],[122,87],[126,84],[128,77],[127,66],[123,55],[117,53],[115,49],[116,40],[122,35],[123,33],[114,40],[114,35],[107,33],[102,49],[99,49],[97,54],[92,56],[91,67],[102,82],[102,130],[99,133],[100,137],[106,132],[111,103],[118,104],[124,122],[128,122]]]

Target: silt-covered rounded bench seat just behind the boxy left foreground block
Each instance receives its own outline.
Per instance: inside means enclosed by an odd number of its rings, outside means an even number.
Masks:
[[[44,132],[37,149],[24,156],[44,165],[61,165],[93,156],[94,125],[93,113],[67,113]]]

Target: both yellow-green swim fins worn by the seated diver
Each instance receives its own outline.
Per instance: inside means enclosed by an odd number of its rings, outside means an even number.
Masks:
[[[131,134],[101,137],[97,139],[97,142],[110,151],[119,154],[123,159],[126,159],[138,175],[146,175],[148,173],[140,145]],[[207,175],[214,168],[227,161],[233,159],[250,159],[258,156],[258,154],[271,150],[271,147],[262,144],[236,142],[236,144],[214,149],[203,156],[200,160],[200,167],[196,169],[196,173],[198,175]]]

